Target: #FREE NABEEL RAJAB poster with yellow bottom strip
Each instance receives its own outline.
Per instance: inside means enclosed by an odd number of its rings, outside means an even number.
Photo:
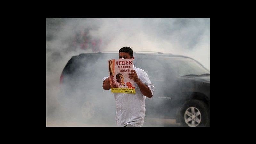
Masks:
[[[129,78],[133,69],[133,59],[110,59],[108,60],[108,76],[111,92],[134,93],[134,81]]]

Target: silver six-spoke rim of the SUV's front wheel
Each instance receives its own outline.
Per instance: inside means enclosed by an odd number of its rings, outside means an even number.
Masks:
[[[184,114],[185,123],[188,126],[198,126],[201,122],[202,116],[196,107],[189,107]]]

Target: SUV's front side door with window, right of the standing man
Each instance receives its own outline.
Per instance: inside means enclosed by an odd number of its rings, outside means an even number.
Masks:
[[[142,57],[140,67],[145,70],[151,83],[155,87],[152,98],[146,98],[146,115],[153,117],[165,117],[169,110],[170,95],[168,95],[168,67],[161,59]]]

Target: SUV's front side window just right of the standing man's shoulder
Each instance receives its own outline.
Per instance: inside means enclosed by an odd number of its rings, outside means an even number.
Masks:
[[[156,59],[143,59],[141,60],[140,68],[145,70],[150,78],[150,80],[164,81],[166,76],[166,69],[164,64]]]

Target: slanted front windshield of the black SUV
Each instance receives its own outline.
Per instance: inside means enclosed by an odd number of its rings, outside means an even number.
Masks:
[[[204,68],[201,64],[190,58],[175,57],[168,59],[168,62],[181,76],[210,76],[210,71]]]

